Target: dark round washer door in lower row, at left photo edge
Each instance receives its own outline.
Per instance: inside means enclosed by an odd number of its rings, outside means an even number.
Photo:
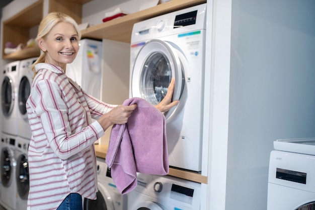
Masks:
[[[12,155],[10,149],[5,147],[1,151],[0,164],[1,164],[1,180],[2,184],[5,187],[9,187],[11,185],[11,177],[12,177]]]

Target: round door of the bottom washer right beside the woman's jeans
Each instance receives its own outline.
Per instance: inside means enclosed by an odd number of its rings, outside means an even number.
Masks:
[[[96,193],[97,199],[84,199],[84,210],[115,210],[112,197],[105,186],[98,182],[99,191]]]

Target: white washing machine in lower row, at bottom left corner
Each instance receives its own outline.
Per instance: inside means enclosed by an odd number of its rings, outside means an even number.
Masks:
[[[1,205],[7,210],[16,209],[16,136],[2,133],[2,149],[0,157],[1,180],[3,184],[0,195]]]

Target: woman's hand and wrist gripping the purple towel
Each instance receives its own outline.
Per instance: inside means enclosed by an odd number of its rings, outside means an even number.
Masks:
[[[113,124],[125,124],[136,107],[136,104],[130,106],[118,105],[97,121],[101,124],[104,131]]]

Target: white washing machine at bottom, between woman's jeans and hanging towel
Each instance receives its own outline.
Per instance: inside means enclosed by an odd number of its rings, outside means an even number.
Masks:
[[[84,210],[127,210],[127,195],[117,190],[105,159],[97,158],[98,188],[97,199],[83,199]]]

